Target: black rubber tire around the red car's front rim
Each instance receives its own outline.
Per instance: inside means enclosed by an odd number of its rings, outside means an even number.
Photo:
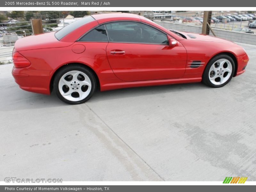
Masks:
[[[220,85],[215,85],[213,84],[211,81],[210,81],[210,78],[209,78],[209,72],[210,72],[210,68],[212,67],[212,65],[217,61],[217,60],[220,60],[220,59],[227,59],[231,65],[232,65],[232,72],[231,72],[231,75],[229,77],[229,79],[223,83],[223,84],[220,84]],[[205,69],[204,69],[204,73],[203,73],[203,76],[202,76],[202,82],[204,84],[206,84],[207,86],[210,86],[210,87],[213,87],[213,88],[218,88],[218,87],[223,87],[224,85],[228,84],[228,82],[232,79],[232,77],[234,76],[234,73],[235,73],[235,62],[234,60],[226,55],[226,54],[220,54],[220,55],[217,55],[215,57],[213,57],[206,65]]]

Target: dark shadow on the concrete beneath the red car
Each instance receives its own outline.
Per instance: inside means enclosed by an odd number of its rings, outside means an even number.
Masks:
[[[15,90],[13,90],[15,89]],[[17,89],[17,90],[16,90]],[[184,92],[186,97],[187,92],[191,90],[209,89],[202,83],[189,84],[170,84],[159,86],[133,87],[100,92],[96,90],[92,98],[87,103],[95,103],[104,100],[125,99],[129,97],[161,95],[170,92]],[[62,102],[54,92],[51,95],[31,93],[21,90],[18,86],[12,87],[12,92],[17,94],[12,95],[6,101],[1,100],[0,111],[23,110],[23,109],[39,109],[53,107],[69,107],[71,105]]]

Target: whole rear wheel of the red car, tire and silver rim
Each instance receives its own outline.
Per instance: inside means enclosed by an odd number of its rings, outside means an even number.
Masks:
[[[71,64],[56,74],[53,89],[60,100],[65,103],[84,103],[95,92],[96,79],[87,68]]]

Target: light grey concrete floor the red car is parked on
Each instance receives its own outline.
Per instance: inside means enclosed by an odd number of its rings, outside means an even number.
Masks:
[[[256,180],[256,46],[223,88],[96,92],[85,104],[21,90],[0,66],[0,180]]]

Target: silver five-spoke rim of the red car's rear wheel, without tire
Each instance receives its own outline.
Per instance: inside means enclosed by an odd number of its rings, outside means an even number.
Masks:
[[[92,89],[90,78],[81,71],[69,71],[59,81],[60,94],[69,101],[86,98]]]

